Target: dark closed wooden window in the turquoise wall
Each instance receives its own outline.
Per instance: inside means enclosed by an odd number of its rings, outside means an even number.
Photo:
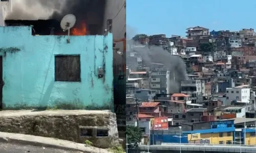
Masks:
[[[55,56],[55,81],[81,82],[80,55]]]

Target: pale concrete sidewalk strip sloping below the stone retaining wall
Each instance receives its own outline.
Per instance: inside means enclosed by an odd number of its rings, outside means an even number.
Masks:
[[[32,135],[13,134],[0,132],[0,142],[23,144],[23,145],[35,145],[43,147],[52,147],[63,150],[74,150],[88,153],[109,153],[106,149],[87,147],[85,144],[75,143],[67,140],[60,140],[48,137],[39,137]]]

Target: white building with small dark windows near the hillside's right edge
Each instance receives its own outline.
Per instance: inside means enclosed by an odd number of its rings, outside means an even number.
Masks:
[[[226,89],[227,105],[231,105],[232,100],[237,100],[242,103],[249,103],[250,89],[249,88],[227,88]]]

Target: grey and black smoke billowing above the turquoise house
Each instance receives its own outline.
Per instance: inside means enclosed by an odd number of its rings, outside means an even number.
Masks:
[[[58,32],[61,30],[59,22],[63,16],[74,14],[76,16],[74,28],[79,27],[80,22],[83,21],[91,35],[102,33],[106,0],[13,0],[12,2],[12,11],[5,17],[6,24],[13,22],[12,20],[19,20],[19,22],[20,20],[38,20],[44,23],[42,25],[47,29],[52,27],[55,32]],[[49,23],[41,21],[49,19],[51,19]],[[29,24],[27,21],[26,23]]]

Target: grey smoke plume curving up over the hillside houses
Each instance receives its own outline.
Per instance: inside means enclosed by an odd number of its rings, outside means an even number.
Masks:
[[[136,42],[133,43],[136,44]],[[170,71],[169,92],[180,92],[181,81],[187,80],[186,65],[180,56],[173,56],[160,46],[136,48],[136,52],[141,55],[146,65],[151,65],[151,63],[164,64],[165,68]]]

